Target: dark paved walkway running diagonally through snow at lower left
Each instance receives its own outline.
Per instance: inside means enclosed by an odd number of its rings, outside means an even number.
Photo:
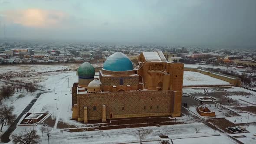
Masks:
[[[16,120],[13,122],[13,124],[10,125],[10,127],[5,131],[5,133],[1,137],[1,141],[4,143],[8,143],[10,140],[10,135],[12,132],[16,129],[18,122],[20,121],[20,118],[22,118],[23,115],[25,115],[27,112],[30,111],[30,108],[34,105],[34,103],[37,101],[40,95],[46,92],[39,92],[36,94],[36,96],[30,101],[30,103],[26,106],[26,108],[21,112],[21,114],[16,118]]]

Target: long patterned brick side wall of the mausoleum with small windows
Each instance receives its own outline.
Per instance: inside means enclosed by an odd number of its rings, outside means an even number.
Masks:
[[[174,103],[173,91],[102,92],[78,94],[77,98],[80,121],[83,121],[85,106],[88,120],[101,120],[102,105],[106,106],[106,118],[109,119],[110,113],[112,118],[171,115]]]

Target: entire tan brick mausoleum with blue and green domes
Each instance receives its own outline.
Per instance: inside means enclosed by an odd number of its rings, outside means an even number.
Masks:
[[[95,77],[89,62],[77,70],[72,87],[72,118],[84,123],[113,118],[181,115],[184,64],[168,62],[161,51],[142,52],[134,68],[115,52]]]

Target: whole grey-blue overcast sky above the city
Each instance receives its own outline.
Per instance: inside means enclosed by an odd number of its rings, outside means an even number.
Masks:
[[[0,0],[0,37],[256,46],[256,0]]]

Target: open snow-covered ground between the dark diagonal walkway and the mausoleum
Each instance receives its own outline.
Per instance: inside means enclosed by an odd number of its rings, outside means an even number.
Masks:
[[[59,75],[48,76],[48,79],[40,84],[46,84],[46,89],[51,89],[52,92],[42,94],[30,111],[49,111],[52,113],[53,117],[56,118],[55,128],[59,120],[65,121],[68,124],[82,125],[70,120],[72,116],[71,87],[74,82],[78,82],[76,72],[65,72]]]

